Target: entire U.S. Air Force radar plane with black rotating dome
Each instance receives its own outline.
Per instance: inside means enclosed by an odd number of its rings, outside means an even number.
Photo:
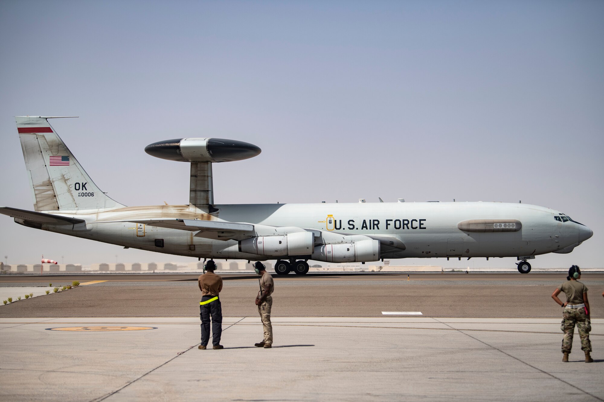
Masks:
[[[399,202],[215,205],[212,164],[260,154],[220,138],[155,142],[149,155],[191,164],[187,205],[124,206],[98,189],[49,116],[16,116],[34,210],[0,207],[30,228],[125,248],[197,258],[277,260],[275,272],[383,258],[516,257],[569,253],[593,235],[550,208],[499,202]]]

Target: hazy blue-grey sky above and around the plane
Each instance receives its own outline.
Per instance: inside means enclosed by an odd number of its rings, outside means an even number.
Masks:
[[[188,164],[146,145],[231,138],[262,153],[214,164],[216,203],[522,200],[594,231],[533,267],[604,267],[603,19],[602,1],[4,0],[0,205],[33,209],[13,116],[79,116],[51,123],[125,205],[188,202]],[[191,260],[0,216],[2,261],[42,254]]]

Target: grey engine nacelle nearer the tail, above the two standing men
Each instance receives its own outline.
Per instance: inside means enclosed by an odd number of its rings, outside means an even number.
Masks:
[[[315,246],[312,232],[295,232],[286,235],[258,236],[239,241],[239,251],[271,257],[310,255]]]

